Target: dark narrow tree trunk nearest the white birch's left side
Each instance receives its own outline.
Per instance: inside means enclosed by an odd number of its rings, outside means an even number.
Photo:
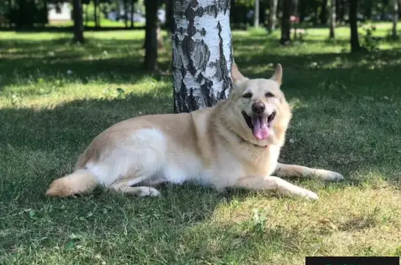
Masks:
[[[157,68],[157,6],[155,0],[145,0],[145,61],[143,66],[148,72]]]

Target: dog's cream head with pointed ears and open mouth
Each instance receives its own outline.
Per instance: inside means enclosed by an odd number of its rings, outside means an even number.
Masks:
[[[242,118],[237,133],[251,143],[283,143],[291,110],[280,90],[283,77],[281,65],[277,65],[270,79],[248,79],[233,63],[231,77],[231,111]]]

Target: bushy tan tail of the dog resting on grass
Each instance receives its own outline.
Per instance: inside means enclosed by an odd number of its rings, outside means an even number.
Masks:
[[[50,197],[68,197],[74,194],[93,191],[98,182],[92,172],[86,169],[79,169],[60,179],[56,179],[50,184],[46,195]]]

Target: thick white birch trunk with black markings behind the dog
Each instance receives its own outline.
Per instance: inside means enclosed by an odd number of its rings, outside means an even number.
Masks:
[[[230,1],[173,0],[174,112],[214,106],[230,93]]]

